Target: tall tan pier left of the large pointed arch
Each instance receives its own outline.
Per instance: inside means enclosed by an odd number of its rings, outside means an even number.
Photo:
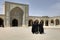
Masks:
[[[6,23],[6,27],[10,26],[10,5],[6,4],[5,6],[5,23]]]

